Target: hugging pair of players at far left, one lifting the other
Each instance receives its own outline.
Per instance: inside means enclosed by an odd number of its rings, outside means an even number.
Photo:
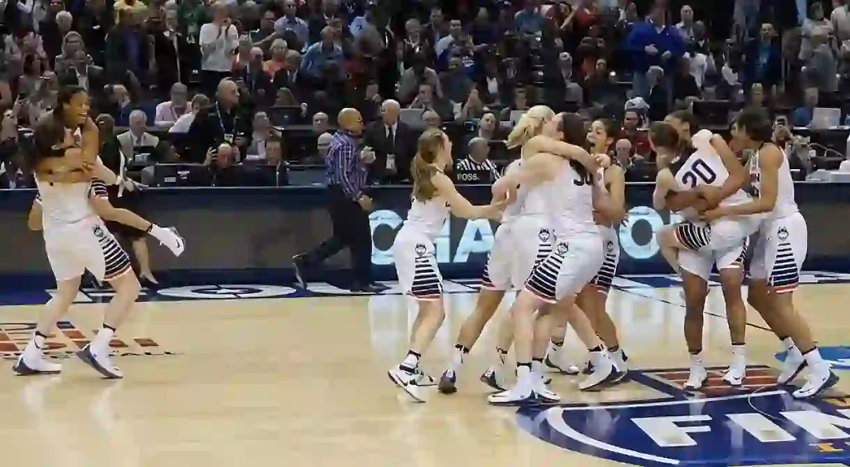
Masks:
[[[28,222],[44,234],[48,260],[54,270],[57,294],[48,303],[48,316],[37,324],[30,343],[21,354],[14,371],[18,374],[57,373],[61,365],[48,363],[42,347],[56,321],[71,307],[79,290],[82,274],[88,269],[96,279],[107,280],[116,290],[105,313],[103,328],[82,351],[77,353],[85,363],[106,378],[122,378],[122,372],[109,359],[109,343],[116,328],[126,318],[139,295],[139,280],[130,267],[127,254],[105,228],[98,212],[116,222],[128,223],[155,235],[175,255],[183,248],[183,240],[175,232],[159,228],[132,212],[111,207],[105,184],[92,181],[88,167],[99,173],[110,173],[97,157],[99,136],[94,122],[88,119],[88,95],[80,88],[65,89],[59,94],[59,114],[36,128],[37,154],[31,161],[38,185]],[[64,114],[59,118],[57,115]],[[81,122],[82,120],[82,122]],[[62,127],[54,127],[55,124]],[[82,149],[65,125],[84,126]],[[58,138],[58,141],[57,141]],[[114,177],[114,174],[111,174]]]

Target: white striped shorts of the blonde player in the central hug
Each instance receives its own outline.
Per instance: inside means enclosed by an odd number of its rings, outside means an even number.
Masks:
[[[552,230],[542,217],[519,217],[496,229],[481,287],[520,290],[537,263],[552,251]]]

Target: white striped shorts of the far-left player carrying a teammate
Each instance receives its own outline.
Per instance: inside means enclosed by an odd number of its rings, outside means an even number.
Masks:
[[[132,271],[127,252],[102,222],[45,230],[44,246],[59,282],[77,279],[87,269],[99,281],[117,279]]]

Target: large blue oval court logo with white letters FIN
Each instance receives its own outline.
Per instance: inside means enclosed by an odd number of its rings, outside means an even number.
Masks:
[[[558,447],[642,466],[850,465],[850,397],[796,401],[775,385],[775,370],[748,370],[745,387],[709,393],[680,385],[687,370],[632,372],[667,397],[649,401],[520,408],[519,425]],[[773,380],[773,383],[770,381]]]

